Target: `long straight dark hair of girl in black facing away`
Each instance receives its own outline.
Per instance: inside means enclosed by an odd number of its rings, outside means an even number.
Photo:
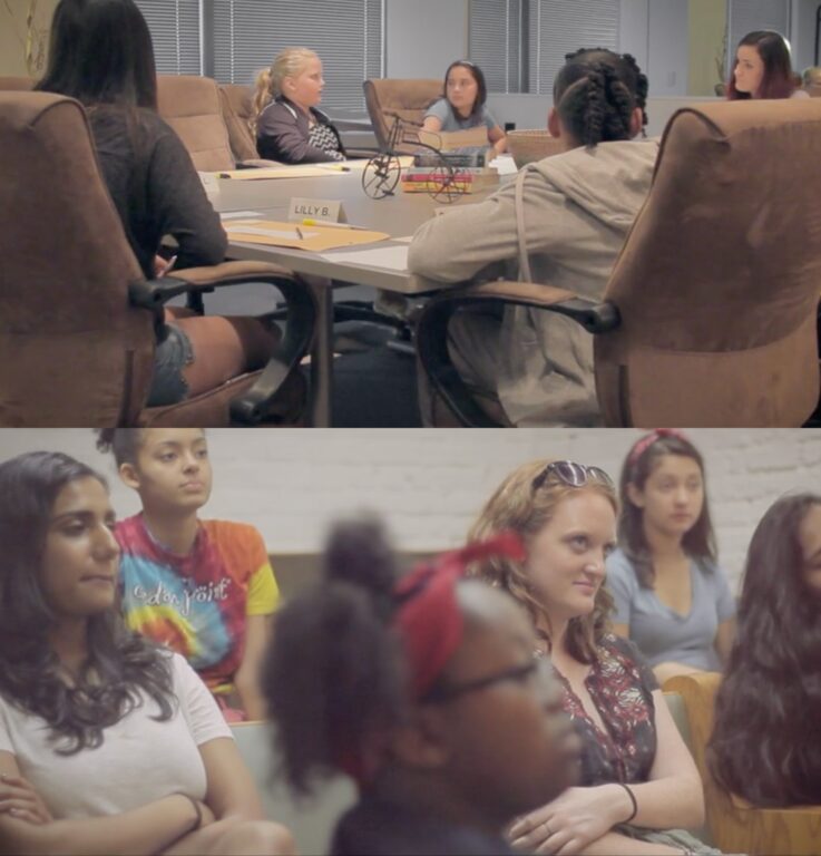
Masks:
[[[134,0],[60,0],[46,74],[37,85],[87,107],[157,109],[148,25]]]

